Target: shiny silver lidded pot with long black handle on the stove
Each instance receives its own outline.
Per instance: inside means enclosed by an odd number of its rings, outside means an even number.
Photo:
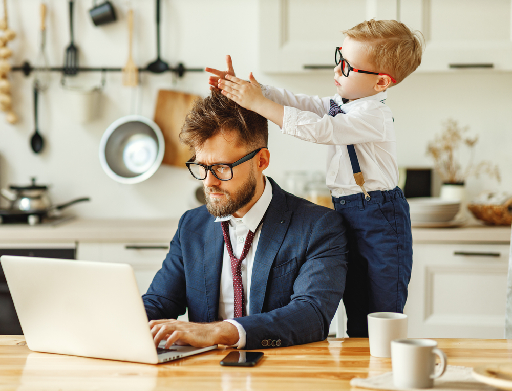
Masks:
[[[28,219],[37,223],[55,210],[67,208],[77,202],[89,201],[88,197],[78,198],[64,204],[52,205],[48,197],[48,186],[38,185],[32,178],[28,186],[10,186],[10,190],[0,189],[0,195],[10,201],[9,209],[0,209],[0,218]],[[31,217],[34,216],[34,217]]]

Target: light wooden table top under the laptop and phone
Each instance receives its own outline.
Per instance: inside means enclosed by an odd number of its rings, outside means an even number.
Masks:
[[[512,340],[437,339],[450,365],[512,363]],[[23,336],[0,336],[0,389],[20,390],[348,390],[353,377],[391,371],[370,356],[367,338],[263,349],[252,368],[223,367],[231,348],[159,365],[32,352]]]

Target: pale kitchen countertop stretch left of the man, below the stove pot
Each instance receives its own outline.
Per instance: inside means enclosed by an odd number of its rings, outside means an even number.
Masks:
[[[0,243],[14,242],[164,242],[178,229],[177,219],[74,219],[56,226],[0,225]]]

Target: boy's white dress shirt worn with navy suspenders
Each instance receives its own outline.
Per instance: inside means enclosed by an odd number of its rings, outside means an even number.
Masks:
[[[347,145],[354,144],[367,191],[398,185],[393,114],[382,101],[387,92],[343,103],[338,94],[319,98],[262,85],[263,94],[284,107],[281,131],[302,140],[328,145],[326,185],[334,197],[361,192],[355,183]],[[330,116],[330,99],[345,114]]]

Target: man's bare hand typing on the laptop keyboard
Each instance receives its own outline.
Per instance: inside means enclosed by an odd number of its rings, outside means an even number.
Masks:
[[[191,323],[175,319],[150,321],[151,334],[158,347],[160,341],[166,340],[165,348],[173,343],[205,347],[211,345],[234,345],[239,340],[237,328],[229,322]]]

